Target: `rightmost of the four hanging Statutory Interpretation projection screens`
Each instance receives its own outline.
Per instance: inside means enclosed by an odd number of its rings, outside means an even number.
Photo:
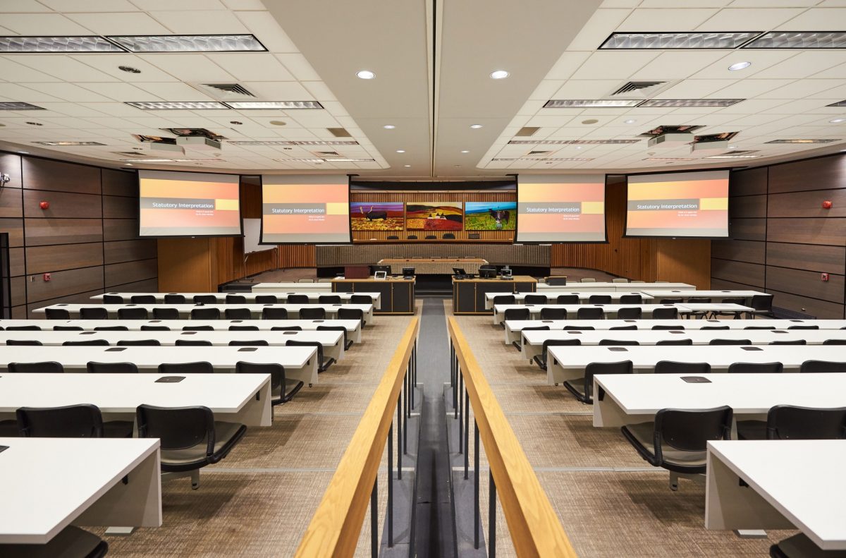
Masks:
[[[626,236],[728,237],[728,170],[628,180]]]

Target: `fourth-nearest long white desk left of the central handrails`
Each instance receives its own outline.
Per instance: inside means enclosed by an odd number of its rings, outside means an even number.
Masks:
[[[91,340],[106,340],[109,345],[140,340],[176,345],[178,340],[190,340],[219,346],[228,346],[229,341],[265,340],[271,346],[283,346],[288,341],[316,341],[323,346],[324,354],[336,361],[343,359],[344,353],[343,331],[0,331],[0,343],[7,340],[35,340],[43,345]]]

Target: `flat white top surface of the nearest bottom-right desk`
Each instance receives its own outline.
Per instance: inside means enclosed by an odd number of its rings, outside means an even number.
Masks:
[[[822,550],[846,550],[846,440],[719,440],[708,451]]]

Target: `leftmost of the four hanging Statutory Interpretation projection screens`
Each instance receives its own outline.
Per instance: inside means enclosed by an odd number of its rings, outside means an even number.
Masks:
[[[239,176],[138,171],[139,236],[240,236]]]

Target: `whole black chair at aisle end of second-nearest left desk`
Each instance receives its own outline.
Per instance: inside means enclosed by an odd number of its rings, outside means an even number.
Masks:
[[[191,488],[200,487],[200,469],[228,456],[247,427],[214,419],[206,406],[140,405],[135,412],[139,438],[161,441],[162,472],[191,472]]]

